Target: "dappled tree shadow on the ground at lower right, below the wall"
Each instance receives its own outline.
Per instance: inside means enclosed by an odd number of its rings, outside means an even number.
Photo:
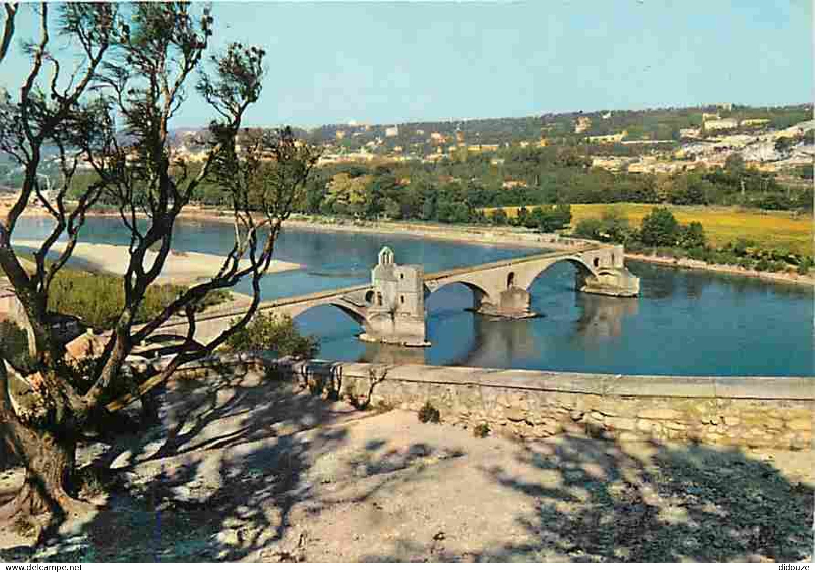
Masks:
[[[399,543],[368,561],[720,562],[813,557],[813,487],[736,449],[568,437],[527,442],[525,470],[484,470],[531,500],[524,539],[481,552]],[[645,450],[645,452],[642,452]]]

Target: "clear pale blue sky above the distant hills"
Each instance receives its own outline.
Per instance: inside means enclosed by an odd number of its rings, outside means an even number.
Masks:
[[[217,44],[267,49],[251,125],[813,97],[810,0],[215,2],[213,14]],[[24,15],[18,40],[33,29]],[[2,64],[0,85],[19,85],[25,64]],[[176,125],[209,117],[191,96]]]

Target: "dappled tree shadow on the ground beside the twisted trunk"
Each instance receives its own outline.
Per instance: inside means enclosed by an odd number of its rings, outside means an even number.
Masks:
[[[161,426],[93,460],[107,508],[40,546],[0,550],[0,560],[238,560],[282,539],[291,509],[311,495],[311,459],[341,446],[347,421],[372,415],[258,372],[173,384]]]

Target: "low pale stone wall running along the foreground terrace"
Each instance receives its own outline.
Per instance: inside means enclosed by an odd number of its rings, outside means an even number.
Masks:
[[[621,441],[703,442],[806,449],[813,444],[813,379],[530,372],[475,367],[293,362],[271,367],[312,389],[372,407],[418,411],[522,438],[557,433]]]

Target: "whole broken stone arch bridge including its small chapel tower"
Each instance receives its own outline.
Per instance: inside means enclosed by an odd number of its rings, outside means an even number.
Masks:
[[[423,274],[421,266],[394,263],[385,247],[372,270],[370,284],[327,292],[280,298],[261,304],[258,311],[297,317],[317,306],[334,306],[363,328],[360,339],[399,345],[428,345],[425,341],[425,298],[448,284],[464,284],[473,292],[474,310],[507,318],[526,318],[528,288],[549,266],[568,262],[578,270],[575,288],[585,293],[630,297],[639,293],[639,279],[624,266],[623,247],[592,246],[540,253],[500,262]],[[196,340],[206,343],[243,315],[246,306],[203,312],[196,320]],[[187,332],[186,319],[173,320],[156,333]]]

